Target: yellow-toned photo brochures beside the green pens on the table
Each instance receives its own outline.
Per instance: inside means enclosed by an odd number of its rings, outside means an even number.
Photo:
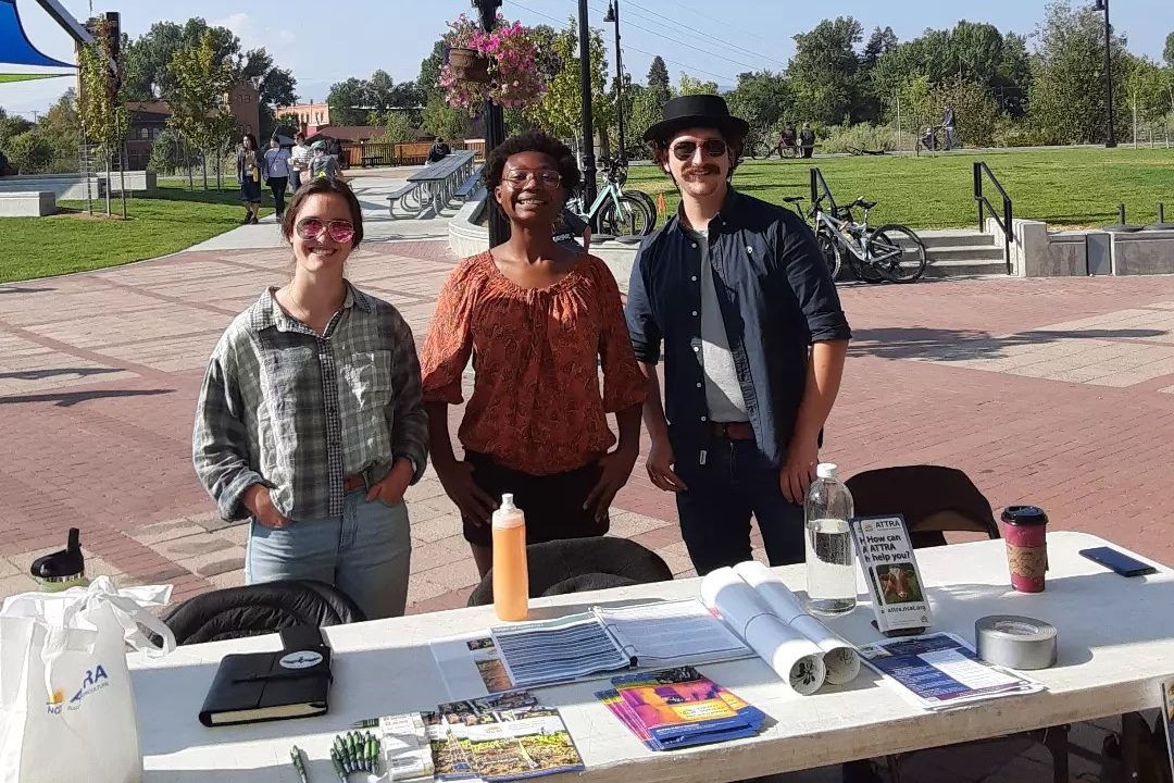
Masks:
[[[514,690],[425,713],[437,781],[498,783],[582,771],[559,710]]]

